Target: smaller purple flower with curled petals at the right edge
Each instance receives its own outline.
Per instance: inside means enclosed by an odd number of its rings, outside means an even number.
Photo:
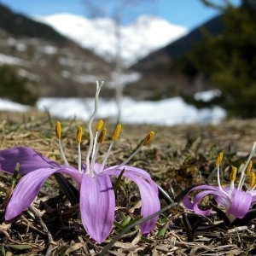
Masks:
[[[230,174],[230,186],[226,188],[222,187],[220,183],[220,163],[223,158],[223,154],[218,154],[218,158],[216,160],[218,186],[199,185],[193,189],[190,189],[183,198],[183,206],[189,210],[193,210],[196,214],[202,216],[210,215],[212,209],[201,210],[199,206],[204,197],[207,195],[212,195],[218,205],[220,207],[224,207],[226,216],[230,219],[230,223],[232,223],[236,218],[244,218],[253,202],[256,201],[256,191],[254,190],[256,187],[254,184],[255,173],[252,172],[253,162],[251,161],[255,151],[256,143],[253,143],[253,148],[247,162],[240,167],[241,177],[237,188],[235,187],[237,169],[234,166],[232,166],[232,171]],[[250,177],[250,189],[244,191],[242,190],[242,187],[246,177]],[[200,192],[197,193],[191,201],[189,199],[189,194],[195,190],[200,190]]]

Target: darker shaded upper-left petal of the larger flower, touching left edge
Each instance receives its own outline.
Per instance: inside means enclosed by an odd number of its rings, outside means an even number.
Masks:
[[[42,156],[32,148],[15,147],[0,150],[0,170],[14,173],[16,164],[20,164],[19,172],[25,175],[39,168],[56,168],[57,164]]]

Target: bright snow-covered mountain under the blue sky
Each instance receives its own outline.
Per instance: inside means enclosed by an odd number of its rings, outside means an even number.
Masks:
[[[119,45],[121,57],[127,66],[187,33],[185,27],[172,25],[152,15],[141,15],[127,26],[116,26],[109,18],[92,20],[67,13],[37,16],[35,19],[54,27],[57,32],[107,61],[117,55]],[[120,34],[120,44],[116,32]]]

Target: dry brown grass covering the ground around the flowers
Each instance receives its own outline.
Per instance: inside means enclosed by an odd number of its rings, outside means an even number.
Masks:
[[[61,162],[54,124],[55,119],[46,113],[1,113],[1,149],[32,147],[50,159]],[[62,122],[62,142],[67,159],[75,166],[75,133],[78,125],[81,125],[78,120]],[[111,130],[113,125],[107,122],[107,127]],[[150,130],[157,132],[154,143],[143,148],[131,160],[130,165],[148,170],[154,180],[174,199],[189,185],[207,182],[220,150],[225,155],[225,180],[230,164],[239,165],[250,151],[255,139],[256,120],[230,120],[221,125],[207,126],[124,125],[119,141],[114,144],[108,165],[119,164],[124,160]],[[87,147],[88,137],[85,131],[82,145],[84,154]],[[101,155],[106,148],[108,142],[102,145]],[[11,177],[3,172],[0,175],[0,201],[4,203],[4,198],[9,193]],[[211,182],[214,183],[214,180]],[[136,187],[125,181],[118,191],[116,220],[121,224],[124,218],[127,220],[127,216],[137,214],[139,197]],[[184,212],[191,225],[197,218],[183,209],[179,197],[177,202],[175,207],[161,213],[158,224],[148,237],[139,236],[137,227],[134,227],[121,236],[105,255],[256,254],[254,220],[244,226],[227,228],[213,214],[211,218],[202,221],[201,227],[195,232],[194,241],[190,241],[184,229]],[[166,207],[164,199],[161,199],[161,203],[162,207]],[[2,207],[1,255],[96,255],[121,231],[120,227],[115,226],[111,236],[102,245],[90,240],[80,222],[79,207],[72,207],[68,203],[54,177],[50,177],[44,184],[33,206],[35,208],[31,210],[37,211],[38,208],[36,215],[40,218],[33,218],[29,212],[24,212],[10,224],[3,221]]]

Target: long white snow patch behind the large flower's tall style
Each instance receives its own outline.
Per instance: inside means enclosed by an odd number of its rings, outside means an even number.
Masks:
[[[88,120],[94,109],[93,98],[41,98],[38,109],[47,109],[56,117]],[[187,105],[180,97],[174,97],[159,102],[135,101],[125,97],[121,102],[121,121],[130,124],[218,124],[225,118],[222,108],[205,108],[198,110]],[[117,117],[116,102],[113,99],[100,99],[98,117],[113,119]]]

